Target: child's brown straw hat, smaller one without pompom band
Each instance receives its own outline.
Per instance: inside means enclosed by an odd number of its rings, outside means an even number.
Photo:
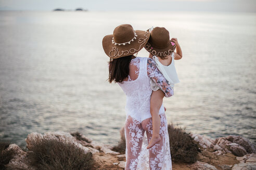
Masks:
[[[173,53],[176,45],[170,40],[169,31],[164,27],[155,27],[150,32],[150,38],[144,48],[152,55],[165,57]]]

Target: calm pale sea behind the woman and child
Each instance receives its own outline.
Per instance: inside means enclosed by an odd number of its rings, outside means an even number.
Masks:
[[[107,81],[102,39],[120,24],[178,39],[168,123],[256,144],[256,13],[186,11],[0,11],[0,140],[64,131],[117,145],[125,94]]]

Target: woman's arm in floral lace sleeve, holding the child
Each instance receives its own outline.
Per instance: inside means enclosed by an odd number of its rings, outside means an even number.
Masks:
[[[167,79],[165,79],[157,68],[155,61],[148,58],[147,59],[147,74],[148,77],[151,78],[157,86],[164,92],[165,97],[171,97],[173,95],[173,88],[168,83]]]

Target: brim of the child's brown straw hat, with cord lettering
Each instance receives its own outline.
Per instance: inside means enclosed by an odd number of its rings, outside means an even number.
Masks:
[[[174,44],[174,45],[173,45]],[[165,57],[168,56],[170,54],[173,53],[173,51],[176,48],[176,44],[174,43],[173,40],[169,41],[169,44],[167,47],[159,49],[156,47],[152,46],[152,43],[150,42],[150,40],[147,42],[147,44],[144,47],[149,53],[151,53],[152,55],[156,55],[156,56],[161,56],[161,57]]]

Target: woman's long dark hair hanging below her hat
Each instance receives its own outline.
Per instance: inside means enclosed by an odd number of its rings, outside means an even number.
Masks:
[[[129,65],[133,55],[123,56],[118,59],[110,59],[108,81],[120,82],[129,75]]]

